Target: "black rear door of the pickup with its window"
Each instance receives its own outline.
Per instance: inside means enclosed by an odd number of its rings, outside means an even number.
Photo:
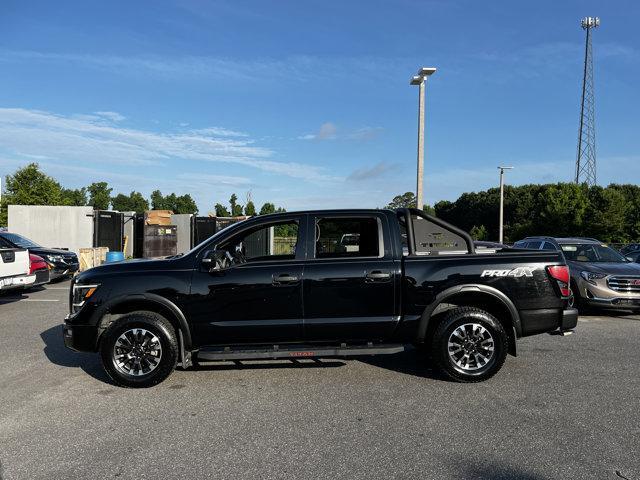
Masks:
[[[304,334],[310,342],[379,341],[397,322],[399,263],[378,215],[310,217]]]

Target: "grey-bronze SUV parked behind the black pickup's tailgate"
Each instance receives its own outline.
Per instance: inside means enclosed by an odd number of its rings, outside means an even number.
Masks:
[[[640,264],[595,238],[527,237],[515,248],[562,252],[575,305],[640,310]]]

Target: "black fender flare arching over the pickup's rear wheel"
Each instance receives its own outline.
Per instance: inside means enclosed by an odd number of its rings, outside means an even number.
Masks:
[[[516,339],[522,336],[520,314],[511,299],[500,290],[481,284],[456,285],[443,290],[423,312],[418,327],[418,341],[425,342],[439,322],[439,312],[448,304],[481,308],[500,321],[509,337],[509,354],[516,356]],[[444,309],[446,311],[446,309]]]

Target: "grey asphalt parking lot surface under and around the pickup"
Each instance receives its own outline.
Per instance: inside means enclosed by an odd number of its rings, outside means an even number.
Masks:
[[[68,282],[0,296],[0,478],[640,479],[640,316],[581,317],[456,384],[413,350],[112,385],[65,349]]]

